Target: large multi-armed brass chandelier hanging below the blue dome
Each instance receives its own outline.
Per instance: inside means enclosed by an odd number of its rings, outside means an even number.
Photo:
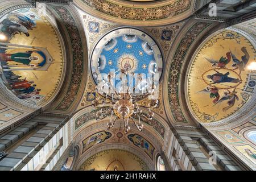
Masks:
[[[96,120],[99,121],[110,116],[110,121],[107,123],[108,130],[111,129],[117,119],[123,121],[123,130],[127,134],[130,130],[129,121],[133,121],[134,125],[139,131],[142,131],[143,124],[141,120],[147,121],[154,119],[154,112],[151,110],[159,104],[158,99],[154,98],[156,86],[154,81],[151,84],[146,82],[144,93],[135,93],[137,86],[142,84],[142,74],[128,73],[127,69],[119,69],[120,77],[115,73],[110,72],[107,78],[96,86],[95,92],[100,94],[103,98],[92,101],[92,107],[99,109],[96,113]],[[117,71],[117,72],[118,72]],[[121,81],[120,89],[115,89],[113,80],[119,78]],[[128,77],[135,79],[135,86],[131,86]],[[153,78],[154,79],[154,78]],[[149,86],[150,85],[150,86]],[[138,101],[148,98],[151,100],[148,105],[139,105]],[[142,112],[142,108],[146,109],[146,113]],[[113,117],[115,117],[113,119]],[[138,119],[138,122],[135,120]]]

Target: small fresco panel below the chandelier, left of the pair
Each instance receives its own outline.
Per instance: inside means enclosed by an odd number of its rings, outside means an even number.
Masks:
[[[94,146],[97,143],[104,142],[106,139],[109,139],[112,134],[108,131],[100,131],[96,134],[90,135],[82,141],[82,152],[88,150],[88,148]]]

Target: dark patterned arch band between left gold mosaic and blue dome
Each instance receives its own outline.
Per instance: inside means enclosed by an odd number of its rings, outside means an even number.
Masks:
[[[63,38],[67,51],[68,69],[60,93],[54,103],[47,108],[48,112],[71,114],[82,98],[86,85],[86,75],[88,74],[88,48],[86,36],[80,16],[72,5],[52,5],[49,9],[57,17],[57,23],[62,28]],[[63,23],[60,23],[63,22]],[[77,36],[79,35],[79,36]]]

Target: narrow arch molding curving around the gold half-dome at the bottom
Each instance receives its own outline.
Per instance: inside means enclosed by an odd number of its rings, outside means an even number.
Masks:
[[[83,155],[79,156],[79,160],[74,165],[73,169],[78,170],[79,167],[86,161],[86,159],[89,159],[90,156],[93,156],[97,154],[98,152],[105,151],[105,150],[124,150],[131,152],[132,154],[138,156],[143,160],[144,163],[148,166],[150,171],[154,171],[154,162],[148,158],[147,155],[145,155],[142,151],[138,150],[138,147],[135,148],[133,146],[123,144],[123,143],[108,143],[108,144],[102,144],[101,146],[97,146],[95,148],[91,148],[90,150],[86,151]]]

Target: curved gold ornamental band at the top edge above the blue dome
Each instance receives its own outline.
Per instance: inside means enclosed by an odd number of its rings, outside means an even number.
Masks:
[[[130,26],[162,26],[191,16],[195,0],[153,3],[75,0],[73,3],[87,13],[113,23]],[[112,13],[108,9],[113,9]]]

